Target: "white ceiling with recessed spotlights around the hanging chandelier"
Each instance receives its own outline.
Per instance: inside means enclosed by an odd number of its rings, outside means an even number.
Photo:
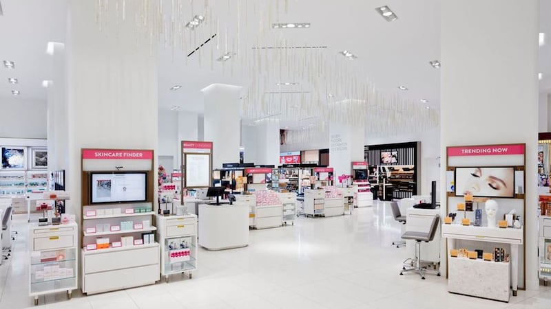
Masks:
[[[0,16],[0,61],[12,60],[16,69],[0,67],[0,99],[10,97],[11,90],[21,91],[19,98],[45,100],[46,91],[41,87],[43,80],[52,74],[49,56],[45,54],[48,41],[63,42],[65,38],[65,0],[0,0],[3,16]],[[165,0],[166,3],[170,1]],[[287,13],[280,10],[278,18],[268,17],[269,9],[262,11],[266,3],[276,1],[240,0],[241,8],[247,4],[246,16],[241,10],[240,48],[233,47],[236,41],[238,15],[236,3],[231,1],[210,0],[213,14],[220,19],[220,49],[213,50],[214,58],[221,56],[224,50],[225,27],[229,32],[230,51],[238,53],[232,60],[222,64],[214,61],[211,69],[210,52],[187,57],[194,46],[185,50],[158,47],[158,95],[159,108],[168,110],[180,106],[180,111],[202,113],[202,93],[200,89],[212,83],[236,84],[247,89],[256,76],[249,70],[240,69],[241,63],[253,58],[251,47],[256,45],[274,45],[276,39],[285,38],[289,42],[302,45],[322,45],[326,58],[333,59],[344,49],[353,52],[357,60],[353,66],[358,78],[371,80],[377,90],[388,95],[399,93],[404,98],[419,102],[427,99],[433,108],[439,108],[439,70],[433,69],[428,62],[439,59],[439,1],[408,0],[280,0],[289,3]],[[262,4],[264,3],[264,4]],[[388,5],[399,17],[388,23],[374,9]],[[168,6],[168,5],[167,5]],[[256,10],[255,10],[256,8]],[[264,7],[265,8],[265,7]],[[541,91],[551,91],[551,1],[541,1],[540,29],[548,34],[548,44],[541,48],[540,68],[543,72]],[[204,14],[202,0],[194,0],[194,14]],[[268,12],[267,12],[268,11]],[[90,12],[90,14],[96,14]],[[274,12],[271,12],[275,16]],[[247,17],[247,19],[246,19]],[[270,23],[311,23],[308,29],[268,29],[260,36],[260,25],[269,27]],[[199,29],[198,29],[199,30]],[[196,45],[216,32],[216,26],[210,25],[196,31]],[[256,39],[260,37],[260,42]],[[216,47],[216,39],[210,47]],[[272,42],[272,43],[271,43]],[[207,51],[208,49],[205,49]],[[232,68],[233,65],[233,68]],[[442,65],[446,65],[443,63]],[[225,68],[223,68],[225,66]],[[233,72],[233,73],[232,73]],[[19,84],[8,84],[7,78],[19,79]],[[323,77],[320,77],[322,79]],[[267,84],[295,80],[269,80]],[[183,88],[169,91],[175,84]],[[408,91],[399,91],[399,85],[406,85]],[[299,87],[309,90],[311,85],[302,82]],[[245,93],[245,91],[244,91]],[[419,104],[422,104],[419,102]],[[283,122],[282,126],[293,126]]]

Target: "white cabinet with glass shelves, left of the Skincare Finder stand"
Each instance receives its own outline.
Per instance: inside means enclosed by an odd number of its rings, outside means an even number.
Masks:
[[[39,296],[67,292],[77,288],[79,255],[78,227],[75,222],[65,225],[39,226],[29,229],[29,296],[38,305]]]

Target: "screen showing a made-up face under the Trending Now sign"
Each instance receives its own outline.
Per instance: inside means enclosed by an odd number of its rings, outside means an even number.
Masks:
[[[455,168],[455,196],[514,197],[514,167]]]

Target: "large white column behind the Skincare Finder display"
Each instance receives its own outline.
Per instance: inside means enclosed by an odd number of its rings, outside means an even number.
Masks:
[[[95,1],[69,1],[65,52],[71,200],[67,212],[77,217],[81,214],[81,148],[157,150],[158,80],[152,52],[156,49],[149,48],[147,34],[134,24],[138,7],[127,1],[126,14],[132,18],[118,25],[115,10],[110,10],[110,23],[100,31]]]

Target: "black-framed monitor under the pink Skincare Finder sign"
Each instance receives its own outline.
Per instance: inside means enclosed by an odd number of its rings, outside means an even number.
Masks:
[[[146,172],[91,172],[90,203],[147,201]]]

